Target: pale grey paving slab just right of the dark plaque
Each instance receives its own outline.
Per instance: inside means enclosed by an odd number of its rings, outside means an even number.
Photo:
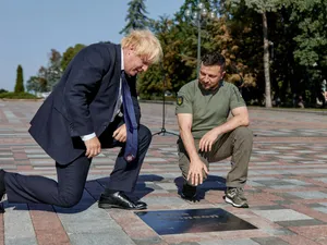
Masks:
[[[313,219],[292,209],[253,210],[254,213],[270,221],[310,220]]]

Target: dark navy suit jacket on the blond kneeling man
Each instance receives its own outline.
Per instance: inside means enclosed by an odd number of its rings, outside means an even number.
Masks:
[[[60,82],[44,101],[29,133],[59,164],[68,164],[85,152],[80,136],[99,136],[109,125],[121,74],[121,46],[94,44],[70,62]],[[130,77],[132,99],[140,124],[136,77]]]

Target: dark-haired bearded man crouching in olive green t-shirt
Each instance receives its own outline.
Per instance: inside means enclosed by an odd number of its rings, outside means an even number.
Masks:
[[[225,200],[247,208],[243,186],[247,179],[253,134],[249,113],[239,89],[222,81],[225,58],[214,52],[202,59],[198,81],[178,93],[177,117],[180,127],[179,166],[185,183],[182,197],[194,199],[196,186],[206,179],[209,162],[231,156]],[[227,120],[229,113],[233,115]]]

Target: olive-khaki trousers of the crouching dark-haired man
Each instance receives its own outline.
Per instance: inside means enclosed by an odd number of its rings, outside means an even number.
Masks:
[[[223,134],[214,144],[211,151],[202,152],[198,150],[199,139],[194,139],[196,150],[202,161],[209,170],[209,162],[220,161],[231,156],[231,170],[226,179],[227,187],[242,187],[247,180],[249,162],[252,154],[253,134],[247,127],[240,126]],[[190,158],[181,139],[178,142],[179,166],[184,180],[187,179]],[[204,173],[204,179],[206,174]],[[189,182],[191,185],[191,182]]]

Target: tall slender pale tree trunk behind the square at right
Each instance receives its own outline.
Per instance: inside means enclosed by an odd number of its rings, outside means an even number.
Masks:
[[[266,12],[263,12],[263,30],[264,30],[264,71],[266,84],[266,107],[271,108],[271,89],[270,89],[270,65],[269,65],[269,40],[268,24]]]

